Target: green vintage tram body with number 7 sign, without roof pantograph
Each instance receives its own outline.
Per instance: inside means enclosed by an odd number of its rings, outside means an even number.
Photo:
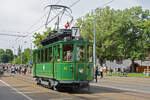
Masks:
[[[34,50],[33,77],[37,84],[46,84],[54,90],[89,87],[94,79],[93,43],[71,34],[71,29],[63,29]]]

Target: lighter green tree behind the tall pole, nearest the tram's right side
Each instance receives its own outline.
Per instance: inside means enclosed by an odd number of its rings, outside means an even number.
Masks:
[[[96,51],[97,58],[103,62],[104,59],[113,60],[122,55],[118,44],[118,29],[120,21],[119,14],[121,11],[115,11],[106,8],[97,8],[93,15],[86,14],[85,17],[77,20],[76,26],[81,29],[81,36],[88,40],[87,34],[93,33],[93,19],[96,19]],[[91,28],[90,28],[91,26]],[[90,31],[89,31],[90,30]],[[93,34],[90,34],[90,39],[93,40]]]

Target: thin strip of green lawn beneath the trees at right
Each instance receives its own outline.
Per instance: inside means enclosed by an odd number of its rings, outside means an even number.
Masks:
[[[123,76],[123,74],[121,74],[121,73],[112,73],[112,74],[110,74],[110,73],[105,73],[104,75],[105,75],[105,76],[126,77],[126,75]],[[146,75],[144,75],[143,73],[128,73],[128,74],[127,74],[127,77],[149,77],[149,78],[150,78],[150,76],[146,76]]]

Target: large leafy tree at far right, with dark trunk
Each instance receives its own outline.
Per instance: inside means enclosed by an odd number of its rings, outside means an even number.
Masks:
[[[133,7],[123,11],[125,16],[120,27],[120,44],[125,58],[132,60],[132,72],[136,72],[134,61],[145,59],[148,50],[149,33],[145,35],[143,23],[150,18],[148,10],[143,11],[141,7]]]

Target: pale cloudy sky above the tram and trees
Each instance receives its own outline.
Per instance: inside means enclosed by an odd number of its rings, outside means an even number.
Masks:
[[[45,24],[48,14],[44,8],[51,4],[70,7],[76,1],[78,0],[0,0],[0,34],[28,35],[26,38],[0,35],[0,48],[14,48],[17,52],[19,45],[22,48],[30,47],[33,33],[45,29],[40,27]],[[71,7],[72,16],[74,19],[79,18],[92,9],[105,7],[110,1],[112,0],[80,0]],[[142,6],[143,9],[150,10],[150,0],[113,0],[107,6],[114,9]]]

